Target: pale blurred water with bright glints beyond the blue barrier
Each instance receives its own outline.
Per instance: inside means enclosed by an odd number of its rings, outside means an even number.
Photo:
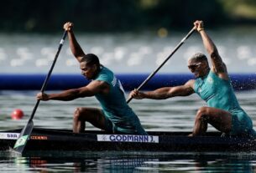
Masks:
[[[190,29],[188,29],[187,33]],[[229,73],[255,73],[256,27],[209,30],[217,44]],[[77,40],[86,53],[96,53],[101,63],[115,73],[151,73],[173,51],[187,34],[169,31],[165,38],[143,33],[77,33]],[[0,33],[1,74],[45,74],[55,58],[62,33],[54,35]],[[206,53],[201,36],[193,33],[159,73],[189,73],[186,61],[194,53]],[[55,65],[55,74],[79,74],[80,69],[66,40]]]

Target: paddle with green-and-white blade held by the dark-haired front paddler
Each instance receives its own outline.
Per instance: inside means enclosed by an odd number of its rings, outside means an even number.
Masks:
[[[62,48],[62,45],[64,43],[66,34],[67,34],[67,32],[65,31],[63,33],[63,36],[62,36],[61,40],[60,40],[60,45],[59,45],[57,53],[55,54],[55,59],[53,61],[53,64],[51,65],[50,70],[49,70],[46,78],[44,79],[44,84],[43,84],[43,86],[41,88],[41,92],[42,93],[44,92],[44,89],[46,88],[46,86],[47,86],[47,84],[49,82],[50,74],[51,74],[52,70],[55,67],[55,63],[56,63],[56,60],[57,60],[57,58],[59,56],[60,49]],[[38,108],[39,103],[40,103],[40,100],[37,100],[37,102],[36,102],[36,104],[34,106],[34,109],[32,111],[32,114],[30,115],[30,118],[29,118],[29,121],[28,121],[27,125],[24,126],[24,129],[19,134],[18,140],[16,141],[16,143],[15,143],[15,145],[13,147],[13,150],[17,151],[18,153],[22,153],[23,152],[23,150],[25,148],[25,145],[27,144],[27,141],[29,140],[29,136],[31,135],[31,132],[32,132],[33,127],[34,127],[34,123],[33,123],[34,113],[35,113],[36,109]]]

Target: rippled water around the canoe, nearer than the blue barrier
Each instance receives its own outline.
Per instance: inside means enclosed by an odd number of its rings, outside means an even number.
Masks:
[[[23,128],[35,104],[35,91],[2,91],[0,130]],[[238,100],[256,125],[256,91],[237,93]],[[24,101],[25,100],[25,101]],[[136,100],[130,106],[146,130],[191,131],[196,109],[205,105],[196,94],[166,100]],[[34,126],[72,129],[72,114],[78,106],[99,107],[94,98],[70,102],[41,102],[34,116]],[[13,109],[23,109],[22,120],[11,120]],[[87,125],[89,130],[97,130]],[[212,126],[209,129],[214,131]],[[253,172],[256,153],[133,153],[64,152],[30,153],[23,157],[0,153],[2,172]]]

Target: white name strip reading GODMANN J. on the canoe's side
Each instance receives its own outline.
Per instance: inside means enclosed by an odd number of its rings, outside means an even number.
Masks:
[[[97,141],[159,143],[154,135],[97,135]]]

